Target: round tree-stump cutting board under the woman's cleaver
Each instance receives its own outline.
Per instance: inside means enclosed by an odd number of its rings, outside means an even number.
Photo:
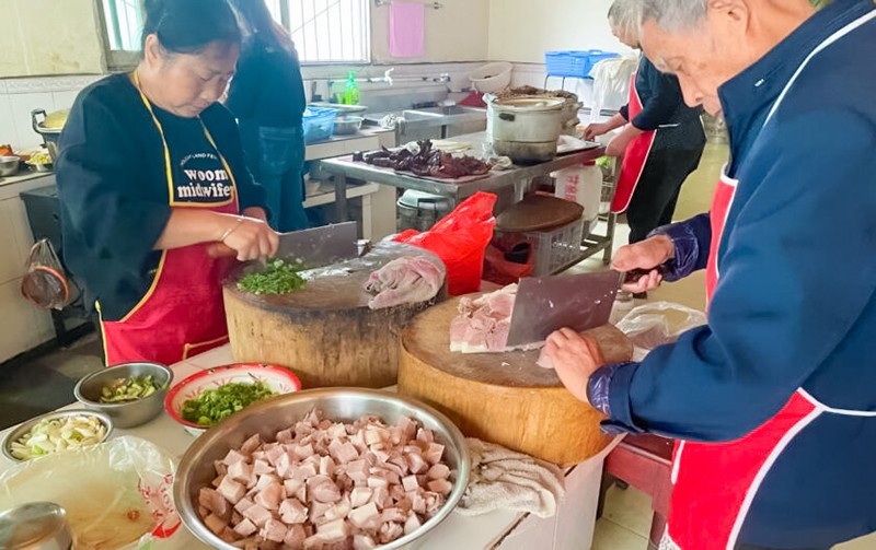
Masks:
[[[300,291],[255,295],[239,290],[237,283],[261,266],[240,266],[224,283],[234,361],[287,366],[307,388],[395,384],[402,330],[416,314],[447,297],[445,284],[428,302],[368,307],[371,296],[364,286],[370,273],[406,256],[427,257],[446,273],[441,260],[422,248],[379,243],[361,258],[321,268]]]

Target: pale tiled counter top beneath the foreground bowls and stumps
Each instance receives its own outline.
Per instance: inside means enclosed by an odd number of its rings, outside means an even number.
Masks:
[[[198,371],[231,362],[231,349],[229,346],[224,346],[174,365],[175,381],[178,382]],[[0,432],[0,438],[10,430],[12,428]],[[171,420],[168,414],[161,414],[142,426],[130,430],[116,430],[113,435],[134,435],[148,440],[175,457],[182,457],[195,441],[182,425]],[[620,443],[620,438],[616,438],[599,456],[567,470],[566,495],[560,503],[556,516],[541,519],[530,514],[520,514],[512,511],[496,511],[477,517],[451,514],[443,523],[424,537],[419,549],[530,550],[532,548],[552,548],[555,550],[578,550],[590,548],[596,523],[596,506],[602,463],[610,449],[618,443]],[[0,475],[12,466],[12,461],[0,456]],[[188,533],[174,539],[174,542],[173,548],[178,548],[180,550],[208,548]]]

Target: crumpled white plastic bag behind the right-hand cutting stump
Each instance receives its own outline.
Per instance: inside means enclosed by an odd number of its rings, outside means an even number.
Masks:
[[[655,302],[633,308],[618,329],[633,342],[633,361],[642,361],[650,350],[678,340],[682,332],[706,324],[703,312],[671,302]]]

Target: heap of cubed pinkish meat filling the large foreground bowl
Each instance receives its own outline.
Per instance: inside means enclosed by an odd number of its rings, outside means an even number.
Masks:
[[[376,548],[445,504],[453,484],[443,449],[406,417],[341,423],[314,411],[274,442],[256,434],[217,460],[198,514],[240,548]]]

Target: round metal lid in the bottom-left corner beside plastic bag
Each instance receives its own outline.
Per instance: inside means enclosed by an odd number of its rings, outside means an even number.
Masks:
[[[67,513],[50,502],[32,502],[0,514],[0,548],[70,548]]]

